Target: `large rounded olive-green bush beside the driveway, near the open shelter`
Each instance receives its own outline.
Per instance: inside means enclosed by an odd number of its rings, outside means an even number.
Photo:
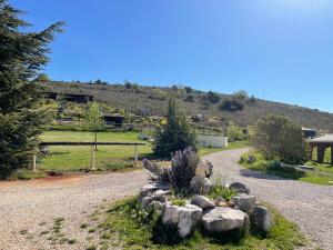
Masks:
[[[279,158],[286,163],[303,163],[306,159],[301,127],[287,118],[266,116],[254,127],[251,143],[266,159]]]

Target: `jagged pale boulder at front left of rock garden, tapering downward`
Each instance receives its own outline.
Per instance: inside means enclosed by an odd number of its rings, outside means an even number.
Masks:
[[[163,224],[176,226],[179,236],[186,238],[199,223],[202,217],[202,209],[194,204],[186,204],[184,207],[165,204],[162,222]]]

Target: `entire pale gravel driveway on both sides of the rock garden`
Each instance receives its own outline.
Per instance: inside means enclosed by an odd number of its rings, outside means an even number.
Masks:
[[[236,162],[245,149],[204,157],[215,176],[246,183],[326,250],[333,249],[333,187],[322,187],[244,170]],[[0,250],[85,249],[80,229],[101,203],[131,196],[147,182],[147,172],[89,174],[59,180],[0,182]],[[75,244],[50,244],[41,237],[63,218],[63,233]]]

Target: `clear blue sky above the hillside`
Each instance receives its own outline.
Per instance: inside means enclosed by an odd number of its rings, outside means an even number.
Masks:
[[[54,80],[240,89],[333,112],[332,0],[10,0],[34,29],[63,20]]]

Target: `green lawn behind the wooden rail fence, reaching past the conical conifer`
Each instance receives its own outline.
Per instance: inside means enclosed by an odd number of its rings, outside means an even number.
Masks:
[[[73,141],[90,142],[94,140],[91,132],[79,131],[46,131],[41,134],[41,141]],[[138,142],[138,132],[99,132],[99,142]],[[141,141],[142,142],[142,141]],[[152,157],[151,143],[138,148],[139,162],[137,168],[141,168],[141,159]],[[222,150],[248,147],[246,142],[230,142],[228,148],[200,148],[199,154],[204,156]],[[52,146],[50,154],[46,158],[37,159],[38,173],[31,173],[29,170],[19,170],[13,173],[13,179],[33,179],[44,177],[47,171],[57,172],[78,172],[90,169],[91,149],[89,146]],[[95,168],[101,171],[128,171],[135,169],[133,167],[134,147],[133,146],[99,146],[95,152]]]

